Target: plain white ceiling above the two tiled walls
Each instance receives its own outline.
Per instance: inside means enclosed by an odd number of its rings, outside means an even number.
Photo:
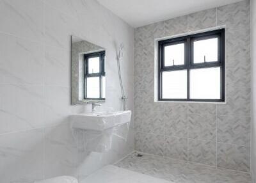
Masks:
[[[97,0],[134,28],[241,0]]]

